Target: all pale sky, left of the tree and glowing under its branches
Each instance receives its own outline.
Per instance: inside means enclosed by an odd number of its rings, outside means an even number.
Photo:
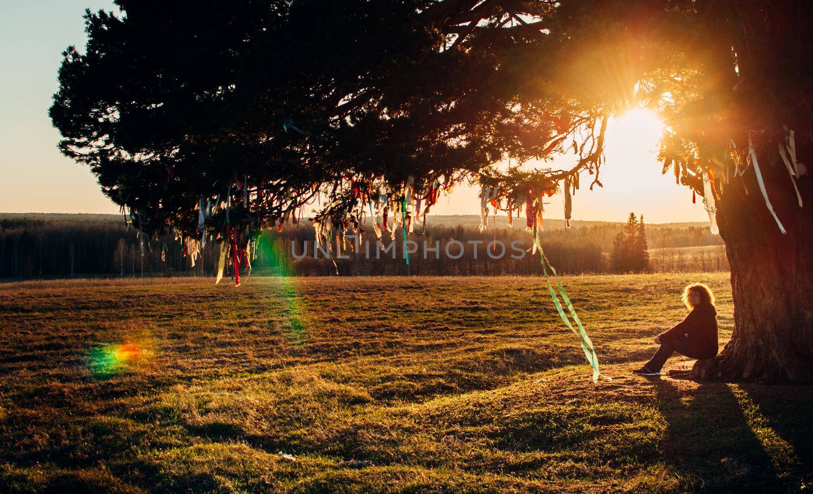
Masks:
[[[59,132],[48,118],[57,89],[61,53],[68,45],[85,45],[85,8],[117,10],[102,0],[4,0],[0,2],[0,212],[118,213],[88,167],[57,150]],[[631,111],[607,130],[604,188],[581,189],[573,197],[573,219],[624,221],[643,213],[647,223],[707,221],[698,198],[662,176],[656,160],[659,123],[652,115]],[[539,167],[566,168],[562,157]],[[479,189],[459,186],[433,208],[436,215],[479,215]],[[546,206],[550,218],[563,218],[563,197]]]

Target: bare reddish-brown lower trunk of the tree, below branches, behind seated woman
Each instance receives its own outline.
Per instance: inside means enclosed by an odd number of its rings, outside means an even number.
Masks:
[[[767,210],[754,167],[724,189],[717,220],[731,267],[734,330],[718,357],[695,364],[701,379],[813,381],[813,177],[798,178],[799,207],[776,142],[762,148],[767,194],[787,234]]]

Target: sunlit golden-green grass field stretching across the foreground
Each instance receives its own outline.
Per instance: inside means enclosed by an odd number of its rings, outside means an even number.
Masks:
[[[2,284],[0,491],[804,488],[813,388],[628,372],[690,280],[563,280],[599,384],[539,278]]]

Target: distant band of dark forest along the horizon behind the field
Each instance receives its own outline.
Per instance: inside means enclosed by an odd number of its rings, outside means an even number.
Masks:
[[[411,254],[409,265],[402,255],[402,231],[393,232],[393,251],[376,258],[376,237],[367,227],[365,240],[370,241],[369,257],[343,249],[347,259],[327,259],[324,254],[314,258],[315,234],[308,223],[282,232],[263,232],[257,243],[256,258],[251,261],[254,275],[538,275],[541,273],[538,254],[528,252],[524,258],[519,250],[511,249],[517,241],[528,249],[533,240],[524,228],[524,221],[508,228],[505,219],[496,227],[480,232],[477,216],[428,216],[426,231],[421,226],[408,240],[420,248]],[[615,236],[624,223],[572,222],[563,228],[562,220],[546,220],[542,245],[550,263],[563,274],[608,273],[609,253]],[[669,223],[647,225],[650,247],[650,271],[728,271],[720,236],[711,235],[702,223]],[[389,245],[389,233],[383,244]],[[489,257],[487,245],[493,240],[506,246],[502,258]],[[302,255],[308,245],[307,257]],[[439,242],[439,254],[428,251],[423,256],[424,241],[429,247]],[[445,246],[450,241],[463,243],[463,256],[447,258]],[[477,243],[480,241],[481,243]],[[470,243],[472,242],[472,243]],[[524,250],[523,249],[523,250]],[[115,215],[0,215],[0,279],[69,278],[87,276],[154,276],[154,275],[215,275],[217,249],[209,241],[202,249],[194,267],[182,254],[180,241],[167,236],[145,241],[143,248],[133,228]],[[450,245],[457,256],[459,245]],[[491,254],[498,257],[500,248],[492,245]],[[436,258],[439,257],[439,258]],[[334,263],[335,261],[335,263]]]

